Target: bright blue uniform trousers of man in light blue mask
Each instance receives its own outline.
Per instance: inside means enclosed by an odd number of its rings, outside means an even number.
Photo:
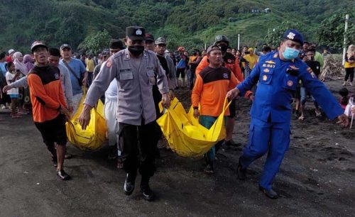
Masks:
[[[290,145],[290,123],[271,123],[251,118],[249,144],[241,155],[241,167],[246,169],[254,160],[268,152],[259,184],[272,189],[283,156]]]

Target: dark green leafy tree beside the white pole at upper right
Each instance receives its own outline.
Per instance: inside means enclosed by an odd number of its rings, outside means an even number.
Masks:
[[[349,13],[349,17],[354,20],[355,10]],[[327,48],[341,49],[344,43],[344,28],[345,28],[346,11],[338,11],[333,16],[324,19],[317,29],[317,38],[321,45]],[[355,41],[355,25],[349,22],[348,30],[346,31],[346,45]]]

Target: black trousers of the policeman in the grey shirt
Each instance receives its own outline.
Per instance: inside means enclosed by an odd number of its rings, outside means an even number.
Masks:
[[[127,173],[139,169],[142,177],[155,172],[155,121],[141,126],[119,123],[119,149]]]

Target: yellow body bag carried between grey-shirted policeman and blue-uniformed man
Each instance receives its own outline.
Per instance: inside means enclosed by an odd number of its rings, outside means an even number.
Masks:
[[[157,123],[174,152],[182,157],[200,157],[218,141],[226,138],[224,112],[228,105],[225,101],[223,112],[213,126],[207,129],[193,117],[192,107],[189,113],[186,113],[180,101],[175,98]]]

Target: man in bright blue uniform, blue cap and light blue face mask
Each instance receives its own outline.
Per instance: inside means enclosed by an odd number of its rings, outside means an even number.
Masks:
[[[298,79],[322,106],[328,118],[338,117],[344,126],[349,124],[344,111],[327,87],[297,57],[302,44],[303,36],[297,30],[287,30],[280,50],[260,57],[251,75],[227,93],[229,99],[244,96],[247,90],[258,83],[250,112],[249,144],[239,158],[237,174],[239,179],[246,179],[246,168],[268,152],[259,189],[271,199],[278,198],[272,188],[273,179],[290,145],[290,102]]]

